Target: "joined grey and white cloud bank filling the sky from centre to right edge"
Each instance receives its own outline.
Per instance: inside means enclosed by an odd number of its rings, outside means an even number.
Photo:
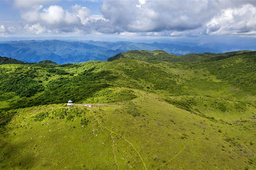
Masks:
[[[100,11],[113,32],[196,36],[252,33],[255,5],[250,0],[104,1]]]

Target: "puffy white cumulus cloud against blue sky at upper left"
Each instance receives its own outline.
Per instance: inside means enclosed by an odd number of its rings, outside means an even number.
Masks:
[[[42,32],[81,32],[91,31],[87,23],[91,20],[103,19],[100,15],[89,15],[90,10],[85,6],[73,5],[70,10],[64,10],[62,6],[50,5],[44,8],[42,5],[34,6],[30,10],[22,11],[26,29],[34,33]]]

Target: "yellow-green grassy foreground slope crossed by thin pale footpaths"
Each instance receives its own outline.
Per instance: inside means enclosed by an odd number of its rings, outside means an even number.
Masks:
[[[120,169],[145,169],[142,160],[147,169],[253,167],[246,163],[255,149],[249,144],[255,133],[251,120],[233,120],[232,125],[211,121],[159,101],[157,94],[134,92],[138,97],[129,102],[139,116],[129,113],[126,102],[72,110],[63,104],[19,109],[3,134],[2,168],[116,169],[112,140]],[[62,117],[63,110],[68,112]],[[42,112],[49,114],[35,119]],[[89,121],[82,126],[83,118]]]

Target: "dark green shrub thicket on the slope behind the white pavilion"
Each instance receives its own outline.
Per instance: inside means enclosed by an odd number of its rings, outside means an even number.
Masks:
[[[101,89],[107,88],[110,84],[107,80],[114,79],[109,71],[88,72],[73,76],[71,78],[60,77],[51,80],[45,88],[45,92],[33,98],[30,105],[41,105],[48,103],[65,103],[69,99],[82,101],[90,98]],[[102,82],[104,81],[104,82]]]

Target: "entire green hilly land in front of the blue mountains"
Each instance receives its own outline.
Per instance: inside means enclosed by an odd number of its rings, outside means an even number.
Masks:
[[[256,168],[255,52],[120,55],[0,65],[0,168]]]

